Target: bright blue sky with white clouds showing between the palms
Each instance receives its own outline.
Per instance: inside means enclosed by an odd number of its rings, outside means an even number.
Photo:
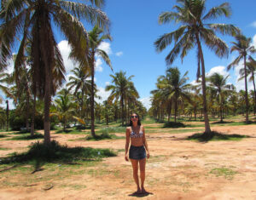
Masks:
[[[255,0],[230,0],[232,15],[229,19],[222,18],[212,21],[213,23],[229,23],[238,26],[244,35],[254,37],[253,43],[256,45],[256,13]],[[222,0],[207,0],[207,10],[213,6],[224,3]],[[107,0],[103,11],[108,14],[111,20],[110,34],[113,37],[112,42],[103,43],[102,49],[108,51],[112,60],[113,71],[126,71],[127,76],[134,75],[131,79],[138,93],[140,100],[145,106],[149,106],[150,91],[155,89],[157,77],[164,75],[166,71],[166,54],[170,52],[172,46],[169,46],[161,52],[156,53],[154,41],[160,35],[174,31],[177,28],[174,24],[159,25],[158,16],[163,11],[171,11],[174,0]],[[89,25],[84,25],[90,31]],[[233,37],[223,37],[224,41],[230,47]],[[57,42],[67,67],[67,78],[70,76],[70,70],[73,68],[72,61],[67,60],[68,46],[65,38],[61,34],[56,34]],[[230,83],[234,83],[237,89],[243,89],[243,83],[236,83],[237,71],[225,71],[225,67],[233,60],[236,54],[231,54],[228,59],[218,59],[218,57],[205,46],[203,46],[206,71],[221,72],[230,74]],[[104,91],[106,84],[111,83],[110,74],[112,71],[102,60],[97,60],[96,64],[96,84],[100,89],[99,94],[102,100],[108,97],[109,93]],[[189,83],[195,80],[196,60],[195,50],[189,52],[183,63],[177,58],[172,66],[177,66],[181,73],[189,71]],[[251,83],[249,83],[252,85]],[[3,96],[3,93],[0,92]]]

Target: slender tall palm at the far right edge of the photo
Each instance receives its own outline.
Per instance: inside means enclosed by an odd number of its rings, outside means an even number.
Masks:
[[[247,55],[249,57],[250,54],[253,54],[256,52],[256,49],[251,45],[252,39],[250,37],[245,37],[241,34],[236,35],[236,42],[232,42],[233,46],[231,47],[230,51],[237,51],[238,57],[236,57],[235,60],[233,60],[230,65],[228,66],[228,70],[231,69],[231,67],[235,67],[239,65],[239,62],[243,61],[243,67],[244,67],[244,85],[245,85],[245,101],[246,101],[246,123],[249,122],[249,102],[248,102],[248,89],[247,89]]]

